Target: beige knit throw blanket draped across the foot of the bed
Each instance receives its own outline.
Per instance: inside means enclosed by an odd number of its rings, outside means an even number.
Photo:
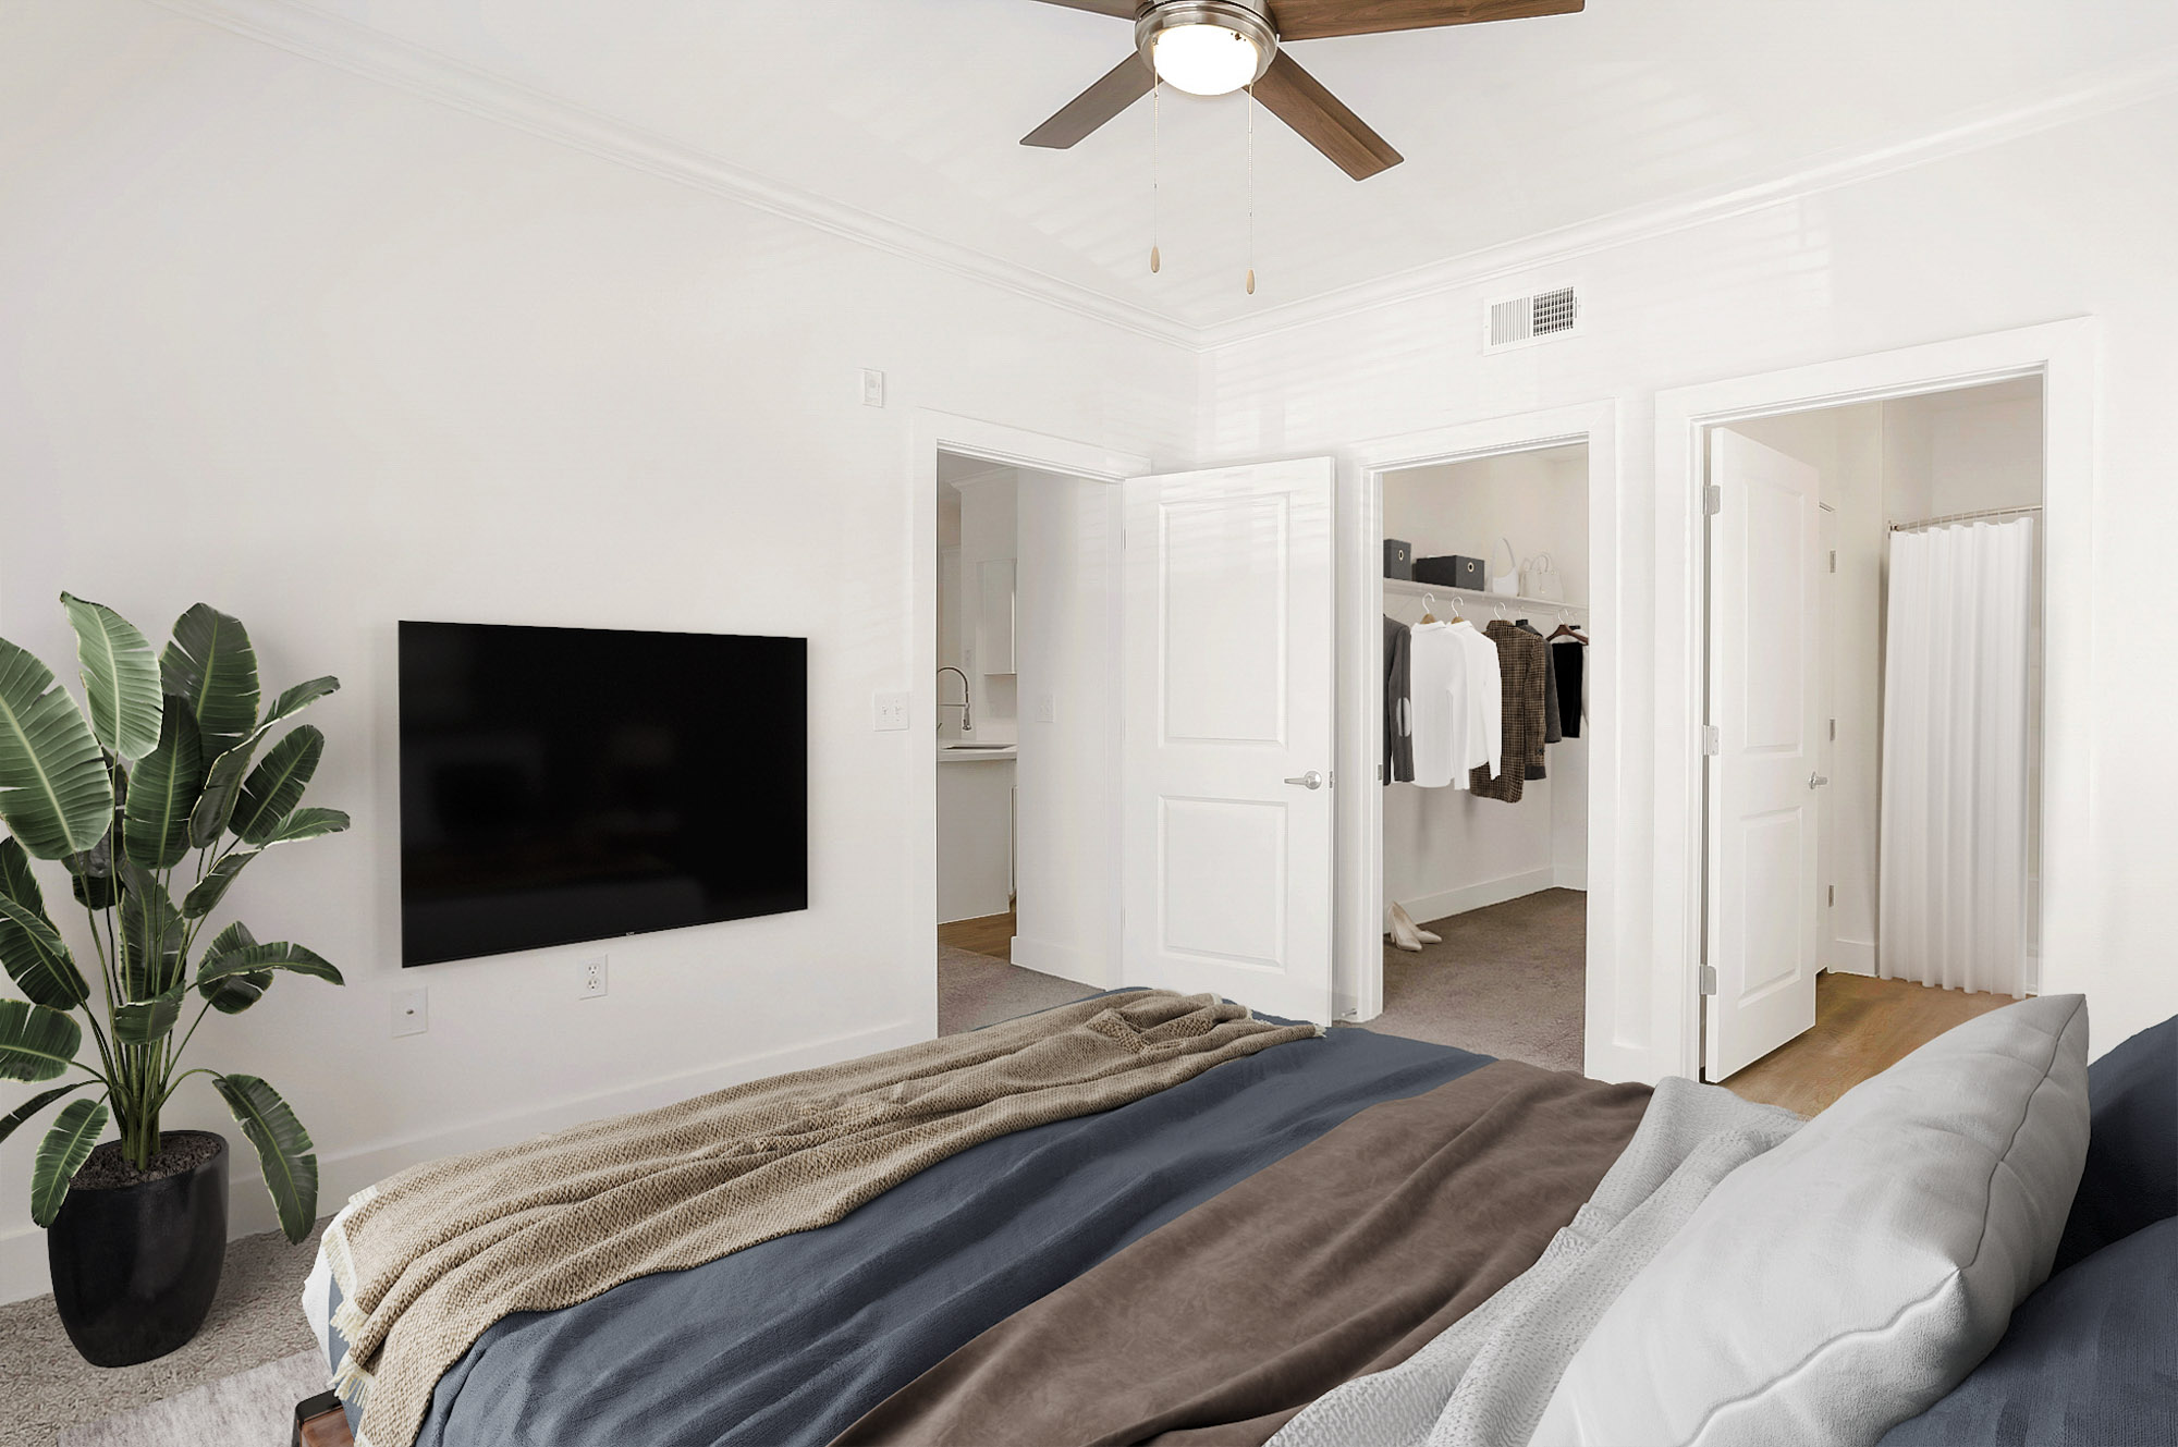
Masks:
[[[357,1447],[409,1447],[486,1327],[830,1225],[974,1144],[1307,1039],[1215,996],[1100,996],[403,1170],[327,1227]]]

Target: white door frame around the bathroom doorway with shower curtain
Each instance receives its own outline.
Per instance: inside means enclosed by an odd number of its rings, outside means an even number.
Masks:
[[[1655,399],[1655,937],[1660,1002],[1653,1057],[1662,1074],[1697,1074],[1697,985],[1703,909],[1701,704],[1708,604],[1701,569],[1703,438],[1714,425],[1867,401],[1949,392],[2010,377],[2043,379],[2043,547],[2052,580],[2093,577],[2095,375],[2093,318],[1906,346],[1755,377],[1657,392]],[[2095,950],[2095,839],[2089,789],[2093,732],[2093,597],[2047,588],[2043,686],[2043,974],[2041,989],[2078,989]],[[1592,1046],[1590,1046],[1592,1050]]]

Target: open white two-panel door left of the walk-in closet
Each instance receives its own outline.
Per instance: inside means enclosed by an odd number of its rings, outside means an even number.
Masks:
[[[1331,1020],[1333,477],[1126,484],[1128,985]]]

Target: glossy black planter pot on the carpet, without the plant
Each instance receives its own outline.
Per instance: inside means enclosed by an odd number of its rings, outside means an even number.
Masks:
[[[46,1231],[52,1301],[91,1366],[150,1362],[205,1325],[227,1260],[227,1140],[211,1140],[220,1148],[192,1170],[70,1190]]]

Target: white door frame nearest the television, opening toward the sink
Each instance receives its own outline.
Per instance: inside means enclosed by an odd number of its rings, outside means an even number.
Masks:
[[[1119,525],[1119,486],[1128,477],[1141,477],[1143,473],[1157,471],[1152,460],[1141,453],[1119,451],[1113,447],[1100,447],[1096,442],[1078,442],[1074,438],[1056,438],[1043,431],[1028,431],[1021,427],[1006,427],[1004,423],[987,423],[971,416],[954,416],[950,412],[932,412],[928,408],[915,408],[908,418],[908,473],[902,506],[906,508],[906,519],[902,534],[906,536],[908,558],[906,558],[906,597],[902,599],[902,612],[910,619],[908,623],[908,645],[906,658],[902,660],[908,669],[908,737],[915,745],[908,750],[908,791],[910,806],[915,811],[917,828],[913,830],[915,856],[908,861],[908,898],[915,900],[915,909],[921,917],[930,920],[930,968],[932,968],[932,989],[921,996],[915,1005],[917,1026],[923,1035],[937,1035],[937,898],[939,898],[939,752],[934,745],[937,732],[930,721],[937,719],[937,671],[939,671],[939,451],[950,451],[963,458],[978,458],[998,466],[1024,466],[1037,473],[1063,473],[1067,477],[1085,477],[1091,482],[1113,484],[1111,488],[1111,519],[1113,532],[1117,536]],[[1113,769],[1117,769],[1119,758],[1119,601],[1124,597],[1124,556],[1113,549],[1111,560],[1111,730],[1113,730]],[[1117,819],[1111,835],[1111,939],[1113,948],[1119,948],[1119,832]],[[873,883],[876,887],[876,883]],[[1091,981],[1091,985],[1113,987],[1124,981],[1119,974],[1119,959],[1106,961],[1109,978]]]

